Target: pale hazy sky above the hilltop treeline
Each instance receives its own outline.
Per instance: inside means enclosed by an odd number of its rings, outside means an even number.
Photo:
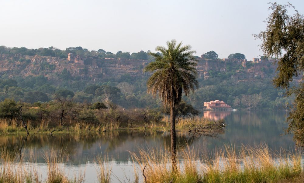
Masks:
[[[176,39],[198,56],[219,58],[261,52],[252,34],[265,30],[270,13],[263,0],[0,0],[0,45],[59,49],[81,46],[116,53],[154,51]],[[291,2],[304,13],[304,1]]]

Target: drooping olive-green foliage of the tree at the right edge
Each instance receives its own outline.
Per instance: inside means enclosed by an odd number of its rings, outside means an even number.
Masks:
[[[295,9],[291,4],[270,4],[272,12],[266,19],[266,30],[255,37],[263,41],[261,48],[265,56],[279,58],[273,83],[275,87],[287,89],[288,96],[295,95],[287,118],[287,132],[293,132],[297,143],[304,145],[304,83],[301,81],[290,88],[294,76],[304,71],[304,17],[297,10],[294,15],[289,15],[287,8]]]

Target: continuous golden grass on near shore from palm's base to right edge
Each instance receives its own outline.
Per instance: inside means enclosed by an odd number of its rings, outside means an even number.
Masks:
[[[163,150],[132,153],[133,161],[144,170],[147,182],[277,182],[295,178],[302,172],[299,152],[271,153],[266,145],[258,148],[225,146],[214,158],[199,158],[186,147],[179,152],[178,167],[171,169],[170,154]]]

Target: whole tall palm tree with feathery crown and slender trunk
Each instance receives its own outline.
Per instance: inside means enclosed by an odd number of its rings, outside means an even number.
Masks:
[[[157,46],[155,50],[159,53],[149,53],[155,57],[154,62],[150,62],[144,72],[153,72],[147,81],[147,91],[153,96],[158,93],[162,102],[170,106],[170,123],[171,123],[171,160],[172,168],[176,168],[176,142],[175,142],[175,112],[174,108],[179,105],[182,93],[188,95],[194,92],[198,87],[196,79],[197,60],[191,51],[190,45],[178,45],[176,40],[167,41],[166,49],[163,46]]]

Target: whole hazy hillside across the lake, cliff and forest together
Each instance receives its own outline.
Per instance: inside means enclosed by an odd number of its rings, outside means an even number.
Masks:
[[[204,101],[223,100],[233,108],[280,109],[290,98],[273,88],[276,65],[267,58],[256,63],[244,59],[198,57],[200,88],[184,100],[200,109]],[[71,91],[76,102],[102,101],[105,91],[122,107],[159,107],[146,92],[151,73],[143,68],[153,58],[147,52],[89,51],[81,47],[0,47],[1,100],[49,101],[56,91]]]

